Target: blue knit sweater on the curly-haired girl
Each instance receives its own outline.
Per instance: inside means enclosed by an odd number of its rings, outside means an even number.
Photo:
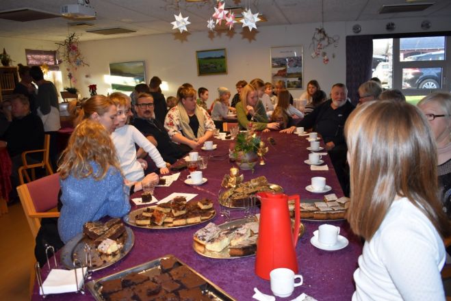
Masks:
[[[92,164],[94,173],[98,170]],[[99,220],[106,215],[120,218],[130,211],[130,202],[124,179],[116,168],[110,167],[100,181],[92,176],[77,179],[72,174],[60,180],[62,209],[58,219],[58,232],[66,244],[83,231],[83,224]]]

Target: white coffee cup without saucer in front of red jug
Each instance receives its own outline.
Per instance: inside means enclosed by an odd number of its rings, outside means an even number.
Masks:
[[[300,281],[295,283],[298,278]],[[285,267],[279,267],[270,272],[271,291],[274,296],[287,298],[292,295],[294,287],[302,285],[303,279],[301,275],[295,275],[292,270]]]

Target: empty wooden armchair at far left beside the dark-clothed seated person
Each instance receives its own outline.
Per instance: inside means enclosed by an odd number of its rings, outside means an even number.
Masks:
[[[27,150],[22,153],[23,166],[18,168],[18,178],[21,184],[25,183],[23,179],[24,175],[28,183],[36,180],[35,168],[45,168],[45,170],[47,170],[47,175],[53,174],[53,170],[49,162],[49,149],[50,149],[50,135],[44,135],[44,148],[37,150]],[[27,155],[32,153],[42,153],[42,161],[38,163],[28,163]],[[27,170],[31,170],[31,178]]]

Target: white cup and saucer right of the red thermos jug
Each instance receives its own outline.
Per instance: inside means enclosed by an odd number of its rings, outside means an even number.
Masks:
[[[342,250],[342,248],[348,246],[349,241],[346,237],[339,235],[339,233],[339,226],[322,224],[318,227],[318,230],[313,231],[313,237],[311,237],[310,243],[321,250]]]

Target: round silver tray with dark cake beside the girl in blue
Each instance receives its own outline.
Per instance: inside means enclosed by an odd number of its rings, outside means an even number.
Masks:
[[[105,223],[86,222],[83,233],[70,239],[62,248],[61,261],[69,270],[73,269],[77,259],[81,265],[88,266],[88,270],[97,271],[123,259],[134,243],[133,231],[120,218]]]

